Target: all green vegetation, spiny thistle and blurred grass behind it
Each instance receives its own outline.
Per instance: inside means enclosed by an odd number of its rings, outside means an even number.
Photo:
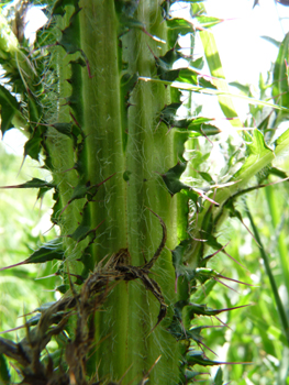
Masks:
[[[253,117],[242,124],[213,34],[203,28],[214,78],[202,75],[203,59],[193,55],[194,23],[213,31],[221,21],[207,16],[202,1],[188,2],[192,22],[170,16],[174,1],[46,1],[48,23],[33,47],[21,23],[15,38],[0,19],[1,131],[25,132],[24,165],[31,158],[42,167],[24,179],[22,170],[21,180],[5,180],[10,172],[2,178],[11,209],[3,210],[1,228],[12,254],[1,262],[0,282],[11,285],[1,305],[2,330],[18,326],[20,312],[36,310],[25,316],[20,340],[11,332],[0,338],[0,383],[191,384],[211,382],[204,366],[224,362],[215,385],[288,378],[288,315],[280,292],[288,293],[289,282],[282,232],[288,213],[280,209],[287,185],[270,184],[287,178],[276,162],[289,147],[289,130],[278,131],[289,112],[288,36],[273,86],[260,79],[258,101],[235,84]],[[186,34],[189,56],[178,44]],[[179,58],[188,67],[175,68]],[[237,141],[224,140],[202,114],[200,92],[218,96]],[[178,114],[180,107],[186,117]],[[14,164],[10,155],[2,158]],[[26,222],[24,235],[13,230],[19,191],[26,218],[30,189],[52,208],[57,231],[33,235]],[[257,198],[268,209],[258,208]],[[269,226],[264,216],[270,216]],[[48,277],[33,280],[40,275]],[[242,295],[230,295],[227,286],[241,290],[242,284]],[[41,304],[29,298],[23,311],[20,287],[24,297],[49,288],[62,298],[42,292]],[[268,301],[273,295],[277,306]],[[213,354],[221,348],[222,360]]]

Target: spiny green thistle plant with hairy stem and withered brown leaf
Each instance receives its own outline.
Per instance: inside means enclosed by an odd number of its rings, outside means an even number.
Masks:
[[[19,264],[56,261],[52,273],[63,278],[55,288],[63,297],[26,320],[22,341],[0,339],[8,384],[4,356],[23,384],[190,384],[196,365],[220,364],[203,351],[205,327],[191,320],[231,309],[194,304],[193,293],[232,279],[207,266],[226,253],[218,228],[229,215],[242,220],[235,199],[285,151],[288,134],[273,151],[255,130],[244,136],[247,157],[232,155],[226,183],[201,167],[205,184],[186,183],[198,167],[186,148],[199,136],[211,143],[220,129],[197,113],[177,116],[181,89],[219,95],[225,116],[235,112],[224,80],[202,76],[202,61],[178,44],[194,36],[196,20],[210,28],[218,19],[205,16],[202,1],[191,1],[192,22],[173,18],[173,3],[47,1],[48,23],[33,48],[12,35],[1,41],[1,131],[25,130],[24,160],[52,175],[16,187],[37,188],[38,198],[53,190],[52,222],[60,229]],[[203,31],[213,74],[209,37]],[[188,67],[175,69],[179,58]],[[58,348],[48,354],[52,339]]]

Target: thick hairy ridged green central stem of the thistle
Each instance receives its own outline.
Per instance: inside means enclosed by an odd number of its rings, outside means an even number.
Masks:
[[[168,100],[168,91],[163,85],[135,85],[127,112],[123,109],[120,86],[123,63],[127,63],[129,75],[152,76],[156,67],[148,46],[159,53],[156,42],[140,30],[130,31],[120,42],[119,28],[122,25],[113,0],[87,0],[80,7],[81,46],[93,75],[91,78],[86,69],[82,70],[87,169],[92,185],[113,175],[101,186],[95,202],[89,204],[91,227],[96,228],[104,220],[91,257],[99,262],[124,249],[129,251],[125,263],[140,266],[145,258],[152,257],[162,239],[160,223],[146,207],[166,222],[167,246],[174,249],[177,243],[176,222],[171,220],[176,201],[171,200],[158,175],[176,162],[174,135],[166,135],[163,124],[156,127],[156,116]],[[159,37],[166,34],[165,23],[160,22],[159,2],[142,1],[136,13],[149,33]],[[125,112],[127,119],[124,119]],[[162,253],[159,260],[154,279],[170,305],[176,300],[170,253]],[[140,381],[162,355],[149,375],[152,383],[164,384],[168,377],[178,381],[177,342],[162,324],[149,334],[158,311],[158,301],[142,282],[119,284],[110,293],[105,311],[99,312],[96,319],[96,342],[103,340],[95,356],[100,378],[119,381],[129,371],[125,383]]]

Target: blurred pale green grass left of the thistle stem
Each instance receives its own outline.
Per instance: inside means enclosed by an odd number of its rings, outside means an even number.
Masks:
[[[14,155],[11,151],[8,152],[9,150],[2,142],[0,143],[1,186],[14,185],[15,180],[19,184],[24,183],[32,174],[34,177],[43,177],[44,170],[40,169],[35,161],[27,158],[21,168],[22,156]],[[27,196],[24,189],[0,189],[1,267],[25,260],[31,252],[54,237],[55,229],[48,232],[52,227],[48,209],[52,197],[47,194],[43,201],[36,202],[36,191],[30,193]],[[53,262],[41,266],[29,264],[1,272],[1,331],[22,326],[23,315],[41,304],[55,300],[54,293],[47,289],[55,287],[57,278],[52,276],[37,279],[51,275],[56,270],[53,264]],[[25,334],[25,330],[19,330],[18,334],[21,338]],[[11,334],[1,337],[9,336]]]

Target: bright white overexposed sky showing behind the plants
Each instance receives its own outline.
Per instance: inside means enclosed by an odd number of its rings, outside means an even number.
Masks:
[[[254,0],[204,1],[209,15],[224,20],[212,31],[226,80],[255,85],[257,90],[259,73],[266,78],[278,54],[278,48],[260,36],[282,41],[289,31],[289,7],[277,4],[275,0],[259,0],[259,6],[253,9],[253,3]],[[184,8],[184,3],[179,3],[179,7]],[[33,14],[34,20],[38,21],[40,18],[40,14]],[[33,23],[29,26],[33,32]],[[201,54],[200,44],[197,40],[196,52]],[[246,108],[244,102],[235,101],[235,106],[240,113]],[[8,151],[22,155],[25,140],[10,130],[3,142]]]

